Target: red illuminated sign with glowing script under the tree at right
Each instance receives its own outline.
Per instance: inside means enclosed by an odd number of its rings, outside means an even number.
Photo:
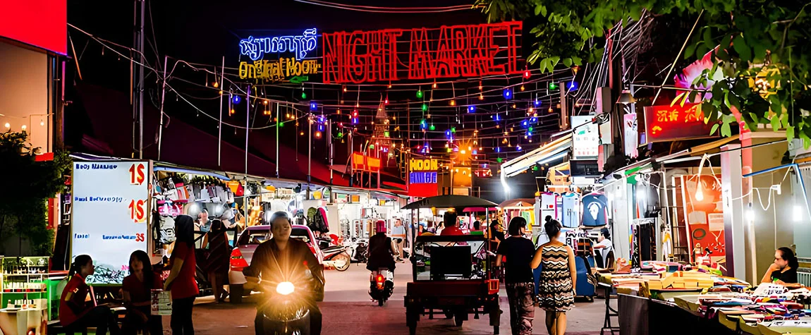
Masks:
[[[698,104],[656,105],[645,107],[647,143],[701,139],[710,135],[712,123],[704,122]]]

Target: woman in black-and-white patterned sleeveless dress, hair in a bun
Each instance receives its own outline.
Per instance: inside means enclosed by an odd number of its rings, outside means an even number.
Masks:
[[[547,331],[550,335],[566,333],[566,311],[574,306],[574,285],[577,268],[572,248],[560,243],[560,222],[551,220],[543,225],[549,242],[535,251],[532,268],[541,268],[538,286],[539,307],[547,311]]]

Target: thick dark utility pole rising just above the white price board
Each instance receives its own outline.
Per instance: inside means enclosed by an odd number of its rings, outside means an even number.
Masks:
[[[144,5],[146,0],[135,0],[133,8],[133,44],[135,46],[135,75],[133,84],[132,118],[137,120],[138,128],[132,128],[132,147],[138,149],[138,159],[144,158]],[[135,141],[135,136],[138,141]]]

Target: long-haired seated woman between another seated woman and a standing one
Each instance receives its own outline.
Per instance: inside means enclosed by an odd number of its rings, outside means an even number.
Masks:
[[[163,334],[161,316],[152,316],[152,290],[161,290],[161,276],[152,271],[152,262],[143,250],[136,250],[130,256],[130,275],[124,278],[124,303],[127,317],[124,319],[125,334],[147,329],[150,334]]]

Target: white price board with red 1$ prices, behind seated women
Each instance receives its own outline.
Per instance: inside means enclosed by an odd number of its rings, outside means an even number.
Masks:
[[[121,284],[130,254],[147,250],[148,161],[73,163],[71,259],[89,255],[88,284]]]

